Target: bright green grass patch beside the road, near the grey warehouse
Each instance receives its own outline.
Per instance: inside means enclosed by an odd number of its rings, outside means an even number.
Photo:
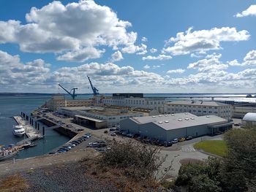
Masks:
[[[207,140],[197,142],[194,147],[195,149],[204,150],[207,153],[212,153],[221,157],[227,155],[227,144],[223,140]]]

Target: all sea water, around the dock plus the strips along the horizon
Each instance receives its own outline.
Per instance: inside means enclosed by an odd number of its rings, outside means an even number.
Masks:
[[[111,96],[110,93],[105,96]],[[222,98],[216,100],[235,100],[235,101],[249,101],[255,102],[256,98],[245,98],[245,94],[178,94],[178,93],[145,93],[145,97],[182,97],[182,96],[241,96],[241,98]],[[255,96],[255,94],[253,94]],[[71,99],[69,96],[65,96],[66,99]],[[78,95],[77,99],[89,99],[91,94]],[[31,111],[37,109],[45,101],[50,99],[50,95],[32,95],[32,96],[0,96],[0,145],[9,145],[10,143],[19,142],[23,138],[15,137],[12,134],[12,126],[16,125],[12,116],[20,115],[20,112],[25,112],[29,115]],[[167,100],[175,101],[175,98],[169,98]],[[42,125],[40,126],[42,128]],[[45,139],[37,140],[37,146],[31,147],[26,150],[21,150],[17,158],[28,158],[35,155],[42,155],[50,152],[59,145],[67,142],[69,138],[62,136],[58,132],[45,128]]]

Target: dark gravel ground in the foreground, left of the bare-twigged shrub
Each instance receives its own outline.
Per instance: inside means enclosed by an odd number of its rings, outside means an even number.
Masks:
[[[20,173],[31,191],[118,191],[111,183],[92,177],[80,164],[65,164]]]

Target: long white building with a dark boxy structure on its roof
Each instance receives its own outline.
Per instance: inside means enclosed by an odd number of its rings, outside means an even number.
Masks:
[[[165,98],[144,97],[143,93],[113,93],[112,97],[102,98],[98,102],[106,105],[135,107],[163,112]]]

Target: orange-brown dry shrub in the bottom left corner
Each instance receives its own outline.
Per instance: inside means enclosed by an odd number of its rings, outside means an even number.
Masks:
[[[19,174],[11,175],[0,181],[1,192],[18,192],[29,188],[26,180]]]

